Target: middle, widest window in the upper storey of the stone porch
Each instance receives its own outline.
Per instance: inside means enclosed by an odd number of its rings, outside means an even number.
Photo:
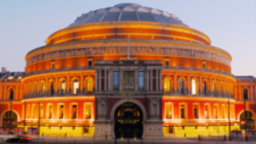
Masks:
[[[123,90],[134,90],[134,72],[123,72]]]

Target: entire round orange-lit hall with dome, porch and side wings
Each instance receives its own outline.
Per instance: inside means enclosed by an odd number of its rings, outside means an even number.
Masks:
[[[227,51],[167,11],[89,11],[25,61],[25,72],[0,73],[8,132],[163,138],[256,128],[256,78],[233,75]]]

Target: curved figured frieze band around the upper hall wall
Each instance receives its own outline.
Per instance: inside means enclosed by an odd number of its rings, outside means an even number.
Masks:
[[[128,46],[113,47],[87,47],[68,50],[52,51],[28,58],[27,65],[48,59],[70,57],[70,56],[93,56],[93,55],[126,55]],[[165,55],[165,56],[187,56],[219,61],[231,65],[231,60],[213,52],[205,52],[193,49],[151,47],[151,46],[131,46],[130,55]]]

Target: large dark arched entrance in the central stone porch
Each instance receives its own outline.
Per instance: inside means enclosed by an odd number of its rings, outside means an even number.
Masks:
[[[137,104],[120,104],[115,111],[115,136],[117,138],[141,138],[143,114]]]

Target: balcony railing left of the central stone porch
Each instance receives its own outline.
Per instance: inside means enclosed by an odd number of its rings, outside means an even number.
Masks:
[[[48,70],[41,70],[41,71],[35,71],[35,72],[29,72],[24,73],[23,77],[34,75],[34,74],[40,74],[40,73],[48,73],[48,72],[61,72],[61,71],[79,71],[79,70],[92,70],[94,69],[94,66],[77,66],[77,67],[65,67],[65,68],[53,68]]]

